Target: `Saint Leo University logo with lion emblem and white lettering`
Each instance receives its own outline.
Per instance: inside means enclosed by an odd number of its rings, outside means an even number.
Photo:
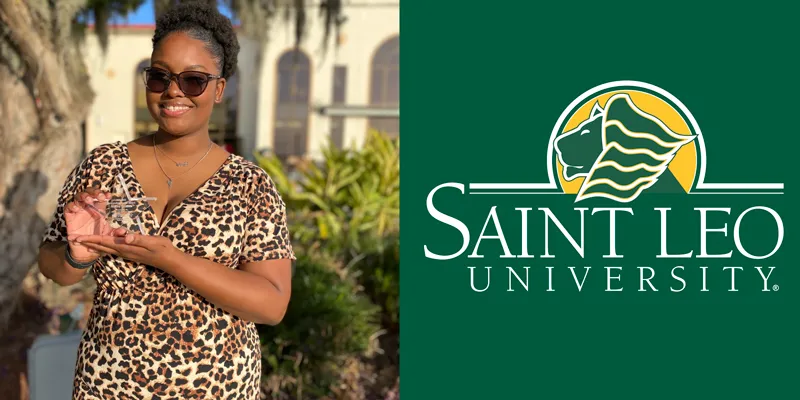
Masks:
[[[741,211],[733,225],[733,234],[729,235],[728,223],[714,225],[712,228],[707,215],[730,214],[730,207],[676,205],[673,210],[670,207],[650,208],[645,201],[638,203],[641,207],[631,206],[637,199],[644,200],[643,196],[649,197],[652,194],[670,194],[673,197],[701,193],[756,195],[756,201],[764,200],[765,197],[761,196],[764,194],[783,194],[783,183],[706,182],[707,160],[703,132],[692,113],[678,98],[662,88],[644,82],[617,81],[599,85],[573,100],[561,113],[550,132],[547,182],[470,183],[468,186],[469,194],[563,194],[579,204],[573,206],[572,210],[567,210],[564,207],[566,204],[559,206],[563,202],[548,196],[546,200],[537,201],[533,207],[528,202],[530,196],[521,196],[519,201],[512,202],[513,210],[520,213],[520,236],[507,240],[507,232],[515,230],[508,229],[508,225],[503,230],[497,212],[498,206],[492,206],[477,239],[471,240],[470,230],[464,222],[439,211],[433,204],[433,196],[439,189],[452,187],[464,193],[464,185],[454,182],[441,184],[428,194],[428,212],[434,219],[456,228],[461,234],[462,244],[457,252],[451,254],[434,253],[425,245],[425,257],[433,260],[458,258],[467,252],[472,243],[472,250],[466,254],[466,258],[469,260],[467,268],[470,287],[475,292],[486,291],[492,281],[498,281],[498,278],[492,279],[491,265],[484,265],[485,274],[481,273],[476,278],[476,262],[480,262],[487,254],[485,247],[481,248],[482,242],[486,240],[496,240],[501,245],[502,254],[499,258],[506,265],[495,271],[508,272],[507,276],[500,278],[504,291],[514,291],[513,282],[519,282],[527,291],[530,276],[533,275],[532,279],[546,282],[548,292],[563,290],[561,288],[564,284],[560,282],[563,279],[570,282],[570,278],[574,279],[578,292],[581,292],[590,271],[593,268],[594,271],[597,270],[593,264],[603,263],[606,265],[600,269],[604,269],[604,273],[600,272],[600,278],[592,279],[601,279],[594,287],[599,288],[602,284],[606,292],[623,290],[622,286],[614,287],[612,281],[620,279],[621,271],[627,269],[636,269],[637,274],[634,276],[638,278],[639,292],[659,291],[656,285],[666,285],[665,281],[670,278],[673,279],[673,284],[680,282],[682,286],[670,285],[667,289],[660,290],[682,292],[687,287],[684,277],[692,281],[692,291],[707,292],[709,281],[726,279],[726,274],[730,274],[727,278],[730,282],[727,290],[736,292],[738,289],[735,274],[737,270],[744,270],[745,267],[739,264],[747,262],[745,260],[757,260],[754,262],[758,264],[752,267],[755,273],[739,278],[740,284],[747,282],[747,285],[751,285],[749,287],[763,292],[777,291],[778,285],[770,284],[769,281],[773,270],[777,268],[770,264],[773,262],[770,259],[783,243],[784,230],[780,215],[772,208],[753,205]],[[589,212],[590,208],[584,202],[588,203],[590,200],[611,200],[623,207],[591,208]],[[685,216],[687,208],[700,216],[699,246],[688,249],[686,238],[694,235],[689,233],[689,229],[694,228],[683,220],[670,220],[668,217],[669,213],[683,213]],[[755,210],[771,214],[777,226],[774,231],[774,245],[771,238],[773,232],[770,230],[759,229],[756,240],[752,235],[753,231],[749,231],[751,235],[748,246],[759,248],[758,252],[745,249],[741,239],[741,221],[745,215]],[[609,233],[604,237],[604,233],[596,230],[595,226],[590,228],[595,230],[591,231],[587,240],[586,215],[594,216],[596,211],[609,212]],[[628,229],[631,225],[616,223],[615,211],[635,215],[637,221],[645,221],[654,231],[640,230],[635,238],[626,236],[631,235]],[[534,213],[538,215],[534,216]],[[506,212],[505,215],[509,213]],[[538,233],[530,234],[531,229],[536,226],[531,220],[537,217],[544,221],[544,229],[539,232],[543,233],[541,236]],[[716,221],[715,224],[720,223],[719,220]],[[667,234],[668,224],[672,224],[672,236]],[[551,226],[557,229],[551,229]],[[496,234],[487,234],[487,227],[488,232],[493,230]],[[641,227],[642,225],[638,226],[639,229]],[[680,233],[682,230],[684,232]],[[556,231],[560,231],[561,236],[569,243],[568,246],[563,241],[560,247],[553,245],[550,236]],[[683,240],[670,240],[670,237],[681,237]],[[592,253],[587,253],[587,242],[604,240],[608,240],[608,247],[602,257],[597,253],[598,247],[594,247]],[[515,242],[520,244],[517,252],[511,250],[511,245]],[[536,254],[531,249],[538,245],[541,245],[538,247],[541,252]],[[676,251],[676,248],[681,250]],[[719,250],[709,250],[712,248]],[[722,249],[729,250],[722,252]],[[521,265],[510,265],[508,259],[517,259]],[[692,265],[689,261],[694,259],[698,260],[697,265]],[[724,264],[714,265],[713,259],[724,259]],[[676,260],[677,263],[670,265],[670,260]],[[629,264],[627,267],[624,266],[626,263]],[[579,278],[576,268],[581,266],[584,273]],[[598,274],[591,273],[593,277]],[[659,278],[654,278],[657,273]],[[627,274],[626,272],[625,275]],[[651,278],[661,283],[654,285],[650,282]],[[478,286],[476,279],[480,281]],[[505,286],[505,282],[508,282],[508,286]]]

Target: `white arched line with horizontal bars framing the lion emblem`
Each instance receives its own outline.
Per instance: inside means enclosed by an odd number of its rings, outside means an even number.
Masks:
[[[547,183],[470,183],[469,189],[470,190],[481,190],[481,189],[505,189],[505,190],[557,190],[558,185],[555,181],[555,176],[553,174],[553,143],[555,139],[558,137],[559,132],[558,128],[564,123],[569,116],[571,111],[577,107],[579,104],[582,104],[586,101],[586,99],[596,95],[597,92],[604,91],[606,89],[612,89],[615,87],[620,86],[633,86],[642,89],[651,90],[655,93],[658,93],[661,96],[669,99],[675,105],[680,108],[683,114],[689,119],[689,123],[692,125],[692,130],[696,134],[695,141],[699,147],[700,152],[700,173],[697,177],[697,185],[695,185],[695,189],[697,190],[714,190],[714,189],[732,189],[732,190],[783,190],[784,185],[783,183],[706,183],[705,176],[706,176],[706,162],[708,160],[708,156],[706,155],[706,146],[705,142],[703,141],[703,132],[700,130],[700,126],[697,124],[697,120],[694,118],[692,113],[689,111],[688,108],[680,101],[678,98],[673,96],[671,93],[667,92],[666,90],[655,86],[650,83],[640,82],[640,81],[613,81],[607,82],[601,85],[597,85],[578,96],[575,100],[573,100],[569,106],[561,113],[561,116],[558,117],[558,121],[556,121],[555,126],[553,127],[553,131],[550,133],[550,141],[547,145]],[[697,192],[690,192],[690,193],[697,193]],[[509,193],[511,194],[511,193]],[[754,193],[755,194],[755,193]]]

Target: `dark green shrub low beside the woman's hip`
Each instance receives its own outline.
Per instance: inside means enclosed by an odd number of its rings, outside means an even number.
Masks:
[[[259,326],[268,395],[329,395],[348,359],[374,349],[379,312],[330,260],[298,254],[286,316],[277,326]]]

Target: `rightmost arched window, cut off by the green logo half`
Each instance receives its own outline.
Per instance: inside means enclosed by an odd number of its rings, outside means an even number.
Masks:
[[[369,102],[372,107],[400,107],[400,37],[381,44],[372,57]],[[369,127],[389,136],[400,135],[399,118],[369,119]]]

